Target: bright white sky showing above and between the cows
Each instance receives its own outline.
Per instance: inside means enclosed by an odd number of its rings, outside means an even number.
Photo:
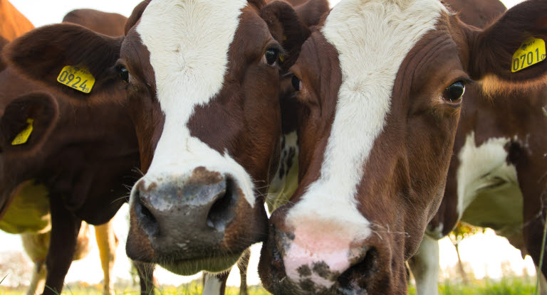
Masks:
[[[24,14],[34,26],[43,26],[51,23],[58,23],[63,16],[73,9],[89,8],[108,12],[116,12],[129,16],[133,7],[140,3],[140,0],[10,0],[22,14]],[[214,1],[214,0],[212,0]],[[331,6],[340,0],[330,0]],[[510,8],[521,2],[519,0],[502,0]],[[117,261],[115,262],[114,275],[124,279],[129,279],[130,262],[125,255],[125,237],[127,237],[127,205],[118,212],[115,217],[115,232],[120,238],[120,245],[117,250]],[[8,235],[0,232],[0,252],[9,250],[21,250],[19,236]],[[93,243],[94,244],[94,243]],[[452,243],[447,238],[441,240],[441,268],[442,276],[447,276],[447,269],[457,263],[457,254]],[[254,245],[251,250],[251,264],[249,266],[248,280],[249,284],[258,284],[259,277],[256,273],[259,251],[261,245]],[[535,273],[533,262],[530,257],[522,259],[519,250],[509,245],[503,237],[497,237],[493,231],[489,230],[485,235],[479,234],[465,239],[460,245],[460,254],[464,262],[469,262],[478,278],[501,277],[501,263],[504,261],[511,264],[511,268],[516,274],[521,274],[522,269],[526,268],[529,274]],[[93,245],[93,250],[88,257],[78,262],[73,262],[68,272],[66,281],[84,280],[90,284],[96,284],[102,277],[98,250]],[[160,284],[182,284],[183,282],[199,277],[199,274],[193,277],[179,277],[163,269],[155,272],[155,277]],[[239,286],[239,272],[237,268],[231,273],[228,281],[229,285]]]

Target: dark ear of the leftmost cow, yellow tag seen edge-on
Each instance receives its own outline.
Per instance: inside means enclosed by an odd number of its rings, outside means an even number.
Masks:
[[[0,118],[0,148],[32,153],[41,149],[58,120],[56,100],[46,92],[31,92],[12,101]]]

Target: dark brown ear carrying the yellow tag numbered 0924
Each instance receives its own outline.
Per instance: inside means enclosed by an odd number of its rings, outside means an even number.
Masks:
[[[95,79],[91,93],[120,88],[122,81],[115,63],[120,58],[122,41],[123,37],[113,38],[83,26],[60,23],[36,28],[16,38],[6,45],[4,58],[8,65],[31,80],[61,90],[75,99],[87,100],[88,93],[58,82],[63,68],[77,66],[88,69]],[[90,85],[89,82],[83,84],[79,86]],[[78,85],[76,87],[80,89]]]

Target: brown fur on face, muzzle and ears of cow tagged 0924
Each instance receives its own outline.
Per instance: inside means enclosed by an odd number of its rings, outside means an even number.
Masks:
[[[263,1],[251,1],[249,4],[243,9],[234,43],[229,48],[230,63],[226,70],[224,88],[207,107],[194,109],[188,127],[192,136],[198,137],[213,149],[220,153],[229,151],[256,181],[256,194],[264,195],[266,184],[273,177],[271,171],[276,170],[278,159],[276,154],[281,134],[281,114],[278,105],[279,73],[278,68],[261,62],[266,45],[271,45],[274,41],[258,9],[266,9],[269,6],[264,6]],[[269,5],[283,4],[274,2]],[[95,95],[66,90],[76,101],[76,105],[93,106],[108,99],[123,102],[119,97],[125,96],[115,94],[125,89],[125,93],[130,97],[127,107],[135,124],[141,168],[144,172],[150,166],[165,120],[155,97],[155,75],[150,66],[150,53],[142,46],[134,29],[146,6],[147,1],[144,1],[135,8],[127,21],[125,38],[108,38],[81,26],[61,24],[41,28],[18,39],[9,46],[6,53],[10,64],[21,70],[21,73],[32,79],[39,79],[43,85],[50,88],[56,87],[56,75],[63,65],[86,65],[97,80],[93,89]],[[288,10],[283,8],[283,11]],[[305,13],[306,10],[300,12]],[[320,11],[307,15],[316,17],[316,14],[320,14]],[[290,21],[298,21],[293,16],[294,14],[291,14]],[[290,44],[284,44],[288,57],[283,67],[288,68],[291,55],[298,52],[295,47],[299,47],[307,37],[306,30],[301,28],[300,21],[296,26],[277,26],[276,22],[281,20],[270,20],[276,28],[281,28],[277,32],[288,36],[287,40],[291,41]],[[300,43],[294,41],[293,36],[301,38]],[[76,46],[77,44],[81,46]],[[123,65],[129,70],[130,84],[120,81],[115,71],[117,61],[118,66]],[[258,97],[260,99],[257,99]],[[217,119],[211,120],[212,117]],[[266,214],[262,207],[263,198],[257,198],[254,208],[244,203],[244,198],[239,200],[241,201],[236,206],[235,221],[226,228],[225,239],[218,249],[208,250],[207,257],[226,252],[241,252],[253,242],[264,238]],[[162,261],[156,259],[157,254],[150,247],[147,235],[140,230],[140,224],[135,222],[133,210],[130,210],[130,215],[128,254],[144,261]],[[184,253],[177,253],[182,254]]]

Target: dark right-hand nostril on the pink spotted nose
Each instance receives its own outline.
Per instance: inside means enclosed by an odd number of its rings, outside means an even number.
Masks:
[[[340,274],[338,285],[341,289],[366,289],[366,281],[377,272],[378,252],[371,248],[349,269]]]

